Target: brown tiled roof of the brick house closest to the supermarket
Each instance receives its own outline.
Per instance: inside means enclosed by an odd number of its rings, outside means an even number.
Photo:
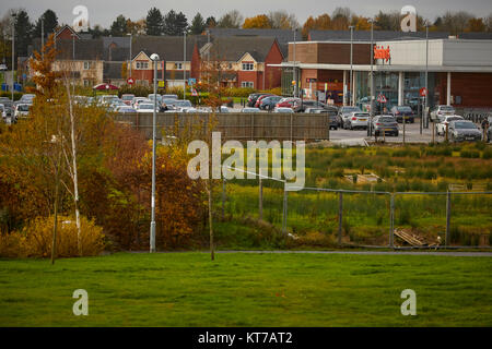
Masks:
[[[237,62],[249,53],[257,62],[265,62],[274,43],[274,37],[216,37],[210,45],[210,56],[214,60]]]

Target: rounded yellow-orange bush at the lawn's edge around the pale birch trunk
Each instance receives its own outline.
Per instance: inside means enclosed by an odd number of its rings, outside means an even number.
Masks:
[[[81,256],[97,255],[104,250],[103,228],[80,217]],[[0,236],[0,256],[49,257],[51,255],[54,217],[38,217],[22,231]],[[79,256],[75,220],[59,216],[57,257]]]

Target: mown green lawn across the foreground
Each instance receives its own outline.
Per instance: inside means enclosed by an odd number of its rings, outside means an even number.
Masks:
[[[400,314],[403,289],[417,316]],[[74,316],[72,292],[89,292]],[[492,326],[492,258],[130,254],[0,261],[0,326]]]

